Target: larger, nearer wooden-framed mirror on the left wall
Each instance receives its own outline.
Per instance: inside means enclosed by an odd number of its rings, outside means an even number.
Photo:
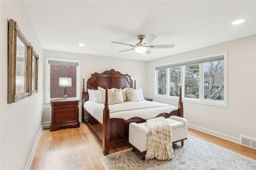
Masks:
[[[10,19],[8,32],[8,103],[30,96],[32,47],[17,22]]]

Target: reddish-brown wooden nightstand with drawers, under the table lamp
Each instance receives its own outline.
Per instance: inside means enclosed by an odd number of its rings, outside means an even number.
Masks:
[[[50,131],[58,130],[60,127],[80,127],[78,121],[79,99],[52,99],[52,122]]]

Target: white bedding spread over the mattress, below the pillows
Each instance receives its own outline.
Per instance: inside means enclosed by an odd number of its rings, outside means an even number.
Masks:
[[[110,110],[110,119],[122,118],[124,120],[132,117],[152,119],[160,113],[169,113],[170,111],[177,109],[177,107],[172,105],[152,101],[124,102],[109,105],[108,107]],[[88,113],[90,113],[102,124],[104,104],[86,101],[84,103],[84,109],[86,109]]]

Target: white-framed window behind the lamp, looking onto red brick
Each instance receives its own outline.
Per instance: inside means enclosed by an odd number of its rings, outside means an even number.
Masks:
[[[64,98],[64,87],[59,85],[60,77],[71,78],[67,89],[68,98],[80,99],[80,62],[79,60],[46,58],[46,103],[51,99]]]

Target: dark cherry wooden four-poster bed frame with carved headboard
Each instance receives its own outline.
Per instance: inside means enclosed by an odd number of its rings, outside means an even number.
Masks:
[[[106,89],[106,99],[103,109],[103,124],[98,122],[90,113],[84,109],[84,102],[89,100],[88,91],[85,91],[84,79],[82,88],[82,122],[85,122],[84,114],[88,114],[88,124],[96,132],[96,134],[102,140],[102,147],[104,155],[109,153],[110,142],[124,140],[128,138],[129,124],[131,122],[142,123],[146,122],[146,119],[140,117],[133,117],[128,120],[120,118],[110,119],[109,108],[108,108],[108,88],[124,89],[125,87],[133,88],[133,81],[130,75],[123,75],[119,71],[111,69],[110,71],[104,71],[103,73],[91,74],[91,77],[87,80],[87,89],[98,90],[98,86]],[[136,89],[136,81],[134,83],[134,89]],[[180,87],[180,98],[178,101],[178,109],[171,111],[170,113],[161,113],[156,117],[168,118],[172,115],[183,117],[183,103],[181,98],[181,87]]]

